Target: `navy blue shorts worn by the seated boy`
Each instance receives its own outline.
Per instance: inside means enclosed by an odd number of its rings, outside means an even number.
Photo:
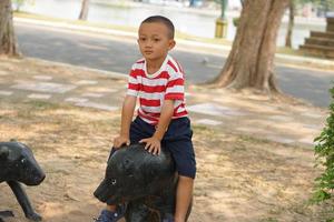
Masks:
[[[130,142],[138,143],[141,139],[150,138],[155,131],[155,125],[137,117],[130,125]],[[161,145],[170,151],[178,174],[195,179],[196,160],[191,137],[190,120],[188,118],[174,119],[161,140]]]

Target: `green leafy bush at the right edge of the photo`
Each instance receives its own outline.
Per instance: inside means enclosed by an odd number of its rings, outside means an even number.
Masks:
[[[325,128],[314,139],[316,162],[324,167],[324,172],[315,179],[316,190],[313,195],[315,203],[331,199],[334,189],[334,87],[330,92],[333,99],[330,104],[330,115],[326,119]]]

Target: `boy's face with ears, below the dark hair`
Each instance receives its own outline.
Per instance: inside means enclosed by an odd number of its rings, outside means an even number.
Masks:
[[[138,44],[141,54],[148,61],[164,60],[175,41],[169,37],[169,30],[164,23],[149,22],[139,27]]]

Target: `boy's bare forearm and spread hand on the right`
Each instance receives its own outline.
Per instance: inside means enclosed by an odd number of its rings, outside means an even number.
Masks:
[[[169,125],[174,113],[174,100],[165,100],[161,113],[159,118],[159,122],[157,124],[156,132],[151,138],[143,139],[139,142],[146,142],[145,149],[153,154],[160,154],[160,142],[164,138],[164,134]]]

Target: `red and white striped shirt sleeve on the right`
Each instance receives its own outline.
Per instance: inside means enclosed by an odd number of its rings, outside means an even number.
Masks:
[[[165,100],[184,100],[185,79],[183,73],[173,72],[167,82]]]

